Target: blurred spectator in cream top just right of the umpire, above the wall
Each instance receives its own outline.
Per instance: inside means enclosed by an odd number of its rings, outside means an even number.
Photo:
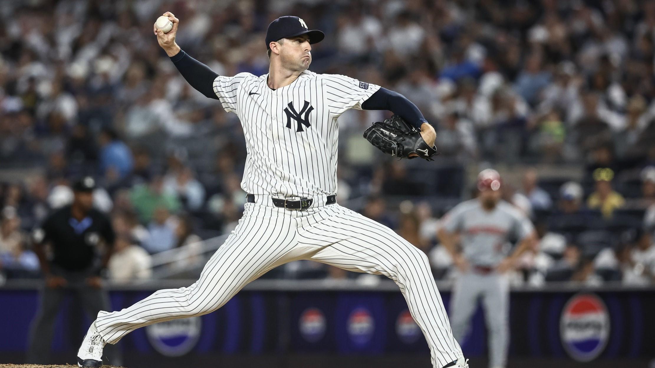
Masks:
[[[140,246],[133,244],[128,235],[119,235],[107,271],[109,280],[113,282],[147,280],[152,275],[150,255]]]

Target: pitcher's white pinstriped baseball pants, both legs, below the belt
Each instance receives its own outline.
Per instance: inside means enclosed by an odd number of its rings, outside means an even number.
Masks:
[[[297,259],[391,278],[428,341],[432,365],[441,368],[462,356],[425,254],[388,227],[336,203],[302,211],[246,203],[244,216],[198,281],[159,290],[126,309],[100,312],[96,328],[115,344],[140,327],[213,312],[248,282]]]

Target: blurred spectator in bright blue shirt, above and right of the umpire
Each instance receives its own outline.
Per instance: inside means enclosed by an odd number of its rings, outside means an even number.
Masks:
[[[100,173],[109,182],[116,182],[128,175],[134,166],[130,148],[119,140],[118,134],[105,127],[98,139],[100,143]]]

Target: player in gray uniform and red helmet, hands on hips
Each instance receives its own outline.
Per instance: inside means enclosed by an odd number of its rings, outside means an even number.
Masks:
[[[438,237],[459,271],[451,302],[457,341],[466,334],[481,299],[489,331],[489,367],[505,367],[509,343],[509,280],[523,252],[536,244],[530,220],[500,199],[500,175],[486,169],[477,176],[479,196],[460,203],[441,220]],[[518,241],[512,250],[510,241]],[[457,250],[457,243],[460,250]]]

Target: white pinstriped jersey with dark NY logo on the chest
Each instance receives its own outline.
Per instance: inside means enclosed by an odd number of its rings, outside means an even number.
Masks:
[[[271,90],[268,74],[217,76],[214,93],[239,117],[246,137],[241,187],[253,194],[316,197],[337,192],[337,119],[380,86],[304,71]]]

